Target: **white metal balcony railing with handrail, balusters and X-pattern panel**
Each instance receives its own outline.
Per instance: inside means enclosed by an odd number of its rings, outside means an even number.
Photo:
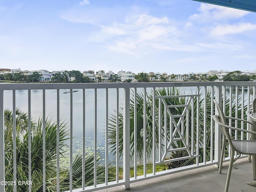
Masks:
[[[255,88],[255,82],[0,84],[0,191],[130,188],[218,165],[223,141],[211,118],[213,99],[226,115],[247,119]]]

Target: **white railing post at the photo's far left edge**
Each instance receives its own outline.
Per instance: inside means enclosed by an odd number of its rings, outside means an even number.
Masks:
[[[4,181],[4,91],[0,90],[0,182]],[[0,184],[0,191],[5,191]]]

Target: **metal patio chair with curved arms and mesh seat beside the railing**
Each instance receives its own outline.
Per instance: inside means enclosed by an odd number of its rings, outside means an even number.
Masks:
[[[225,138],[228,139],[228,143],[230,145],[230,152],[231,152],[230,153],[230,163],[228,166],[228,175],[227,175],[226,186],[225,186],[225,192],[228,192],[228,186],[229,186],[229,182],[230,182],[230,176],[231,176],[233,163],[240,157],[241,154],[256,155],[256,140],[234,140],[230,136],[229,129],[242,131],[242,132],[248,132],[248,133],[252,133],[252,134],[256,134],[256,132],[228,126],[226,124],[226,119],[234,119],[234,120],[246,122],[252,126],[255,126],[255,125],[250,123],[249,121],[246,121],[243,119],[224,116],[222,108],[220,107],[218,102],[216,100],[213,100],[213,102],[215,103],[215,106],[217,107],[219,115],[214,115],[214,116],[212,116],[212,118],[215,123],[220,125],[222,133],[224,134]],[[225,140],[223,141],[223,144],[222,144],[222,155],[221,155],[222,160],[223,160],[223,155],[224,155],[224,150],[225,150]],[[235,158],[235,160],[234,160],[234,151],[238,152],[238,154],[239,154],[239,156],[237,158]],[[220,161],[220,163],[221,163],[220,167],[222,167],[222,161]]]

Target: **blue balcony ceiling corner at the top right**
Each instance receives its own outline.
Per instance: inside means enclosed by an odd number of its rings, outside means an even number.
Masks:
[[[256,0],[194,0],[194,1],[256,12]]]

